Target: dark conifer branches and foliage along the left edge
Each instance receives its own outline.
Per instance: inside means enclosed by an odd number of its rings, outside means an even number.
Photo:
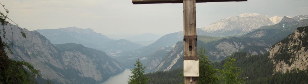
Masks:
[[[5,6],[0,3],[0,5],[4,8],[5,13],[0,11],[0,22],[1,26],[3,26],[3,38],[5,38],[5,27],[6,25],[10,25],[11,21],[16,26],[18,26],[14,21],[8,18],[9,11],[5,9]],[[7,19],[9,21],[7,21]],[[12,29],[12,27],[10,27]],[[18,27],[19,28],[19,27]],[[20,29],[20,28],[19,28]],[[21,34],[24,38],[26,38],[25,32],[21,29]],[[12,32],[13,33],[13,32]],[[13,39],[14,41],[14,39]],[[36,76],[41,76],[39,74],[39,70],[36,70],[30,63],[24,61],[15,61],[8,57],[8,53],[6,53],[6,49],[8,49],[10,54],[13,54],[9,45],[13,45],[13,43],[7,44],[2,41],[0,36],[0,84],[34,84]],[[12,46],[13,48],[13,46]]]

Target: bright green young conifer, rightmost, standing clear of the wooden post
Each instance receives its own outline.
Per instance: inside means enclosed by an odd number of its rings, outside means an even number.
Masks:
[[[223,69],[220,70],[222,76],[222,84],[241,84],[243,82],[243,78],[239,78],[241,74],[241,69],[239,67],[235,67],[235,58],[234,55],[232,58],[228,57],[225,60],[225,64],[223,64]]]

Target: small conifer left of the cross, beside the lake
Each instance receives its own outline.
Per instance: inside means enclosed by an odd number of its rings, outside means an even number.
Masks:
[[[132,76],[129,76],[128,84],[146,84],[149,77],[145,77],[146,67],[140,62],[138,58],[136,60],[136,64],[134,64],[135,68],[130,69]]]

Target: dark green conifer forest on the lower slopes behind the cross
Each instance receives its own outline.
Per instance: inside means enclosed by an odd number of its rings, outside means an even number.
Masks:
[[[240,67],[240,77],[245,78],[244,84],[307,84],[307,71],[293,70],[287,73],[274,72],[274,65],[268,58],[269,53],[263,55],[250,55],[245,52],[234,53],[236,66]],[[225,61],[211,63],[221,69]],[[200,71],[201,72],[201,71]],[[181,70],[154,72],[146,74],[150,77],[148,84],[179,84],[183,82]]]

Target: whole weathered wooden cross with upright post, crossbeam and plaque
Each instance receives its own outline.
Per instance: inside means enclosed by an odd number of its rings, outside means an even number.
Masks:
[[[184,83],[198,84],[196,2],[240,2],[247,0],[132,0],[133,4],[183,3],[184,12]]]

